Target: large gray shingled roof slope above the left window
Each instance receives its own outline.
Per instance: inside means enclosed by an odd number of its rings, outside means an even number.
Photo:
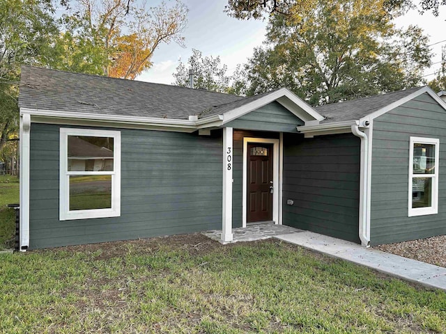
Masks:
[[[23,66],[19,106],[187,120],[214,106],[244,99],[207,90]]]

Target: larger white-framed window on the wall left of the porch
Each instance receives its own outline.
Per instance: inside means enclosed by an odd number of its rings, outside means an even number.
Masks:
[[[59,219],[121,215],[121,132],[60,129]]]

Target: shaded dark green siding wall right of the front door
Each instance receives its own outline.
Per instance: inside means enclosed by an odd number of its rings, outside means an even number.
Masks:
[[[283,184],[284,225],[360,242],[360,138],[285,134]]]

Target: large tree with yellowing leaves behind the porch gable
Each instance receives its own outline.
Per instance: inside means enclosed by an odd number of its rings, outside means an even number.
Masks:
[[[270,17],[266,47],[245,66],[247,95],[287,86],[311,104],[415,86],[427,38],[395,29],[380,0],[300,0]]]

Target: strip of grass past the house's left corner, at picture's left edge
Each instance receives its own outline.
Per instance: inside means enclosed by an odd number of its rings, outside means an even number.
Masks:
[[[8,204],[19,202],[19,179],[0,175],[0,250],[14,246],[15,212]]]

